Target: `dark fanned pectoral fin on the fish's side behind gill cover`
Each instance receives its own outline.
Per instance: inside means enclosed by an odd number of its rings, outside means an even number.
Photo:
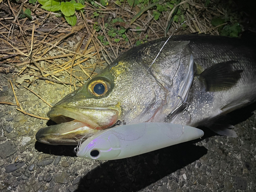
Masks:
[[[233,71],[232,65],[237,61],[220,62],[205,69],[199,76],[204,78],[206,91],[223,91],[234,86],[243,70]]]

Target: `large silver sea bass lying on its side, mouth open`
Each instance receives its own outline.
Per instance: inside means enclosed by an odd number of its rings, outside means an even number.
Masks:
[[[119,122],[211,126],[256,100],[255,46],[247,40],[181,35],[147,42],[118,57],[56,103],[39,142],[74,144]],[[236,136],[228,130],[217,133]]]

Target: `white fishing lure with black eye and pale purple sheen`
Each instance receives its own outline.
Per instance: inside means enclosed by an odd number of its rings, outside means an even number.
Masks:
[[[195,127],[172,123],[138,123],[101,131],[76,150],[78,157],[114,160],[133,157],[160,148],[198,139],[204,135]]]

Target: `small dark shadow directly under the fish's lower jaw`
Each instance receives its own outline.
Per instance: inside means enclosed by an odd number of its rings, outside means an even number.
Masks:
[[[75,145],[48,145],[40,143],[38,141],[35,142],[35,149],[38,152],[56,156],[76,157],[76,154],[74,153],[74,148]]]

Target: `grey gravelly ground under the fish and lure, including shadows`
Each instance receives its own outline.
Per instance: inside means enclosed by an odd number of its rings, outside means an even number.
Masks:
[[[12,78],[12,74],[5,75]],[[15,103],[10,83],[0,76],[0,101]],[[29,84],[24,82],[27,87]],[[35,80],[30,89],[56,103],[69,93],[60,84]],[[28,113],[46,116],[50,107],[30,91],[14,87]],[[115,160],[81,159],[74,146],[38,143],[35,134],[50,122],[0,105],[1,191],[256,191],[255,105],[229,116],[238,138],[204,129],[202,139],[144,155]],[[243,116],[242,116],[243,115]]]

